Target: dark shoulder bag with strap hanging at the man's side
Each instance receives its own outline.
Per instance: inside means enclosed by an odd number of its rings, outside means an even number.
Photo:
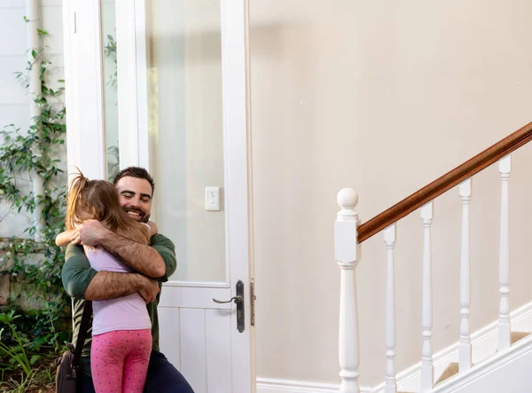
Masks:
[[[92,314],[92,302],[89,300],[83,306],[82,324],[77,340],[74,345],[70,342],[66,344],[68,350],[61,358],[56,360],[58,369],[56,371],[56,393],[75,393],[77,391],[77,381],[79,362],[82,357],[83,344],[89,330],[90,315]]]

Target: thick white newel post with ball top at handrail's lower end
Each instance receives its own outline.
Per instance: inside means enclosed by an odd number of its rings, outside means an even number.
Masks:
[[[355,211],[358,195],[350,188],[338,193],[338,213],[334,223],[334,257],[340,266],[340,393],[360,393],[358,386],[358,315],[356,311],[356,265],[360,261]]]

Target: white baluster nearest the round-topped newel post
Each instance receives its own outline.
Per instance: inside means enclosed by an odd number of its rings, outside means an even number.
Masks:
[[[397,393],[395,381],[395,224],[384,230],[387,248],[386,279],[386,381],[384,393]]]

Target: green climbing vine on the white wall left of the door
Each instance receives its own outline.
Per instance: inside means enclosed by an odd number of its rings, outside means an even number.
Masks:
[[[44,42],[48,32],[39,29],[38,33]],[[61,100],[64,81],[51,86],[46,46],[32,50],[26,69],[15,75],[26,89],[34,67],[39,67],[42,89],[33,97],[40,114],[28,130],[14,124],[0,130],[0,202],[9,206],[0,216],[0,224],[10,216],[23,215],[28,220],[23,232],[4,239],[0,274],[11,276],[14,286],[20,288],[12,290],[12,303],[29,298],[53,314],[53,324],[68,306],[61,283],[64,253],[55,245],[56,235],[64,231],[66,206],[65,162],[59,158],[64,154],[66,136],[66,110]],[[43,182],[43,194],[32,191],[36,181]],[[30,218],[34,215],[39,216]],[[42,231],[37,222],[42,223]],[[36,234],[39,240],[35,240]]]

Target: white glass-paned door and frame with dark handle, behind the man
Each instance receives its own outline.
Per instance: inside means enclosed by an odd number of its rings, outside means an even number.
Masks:
[[[197,393],[254,391],[246,0],[63,7],[69,166],[152,173],[153,219],[177,256],[161,350]]]

